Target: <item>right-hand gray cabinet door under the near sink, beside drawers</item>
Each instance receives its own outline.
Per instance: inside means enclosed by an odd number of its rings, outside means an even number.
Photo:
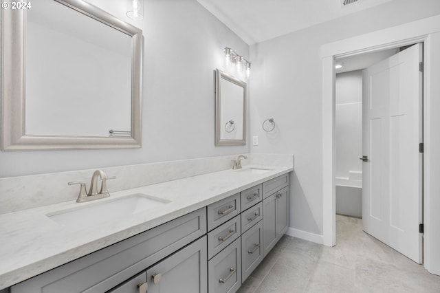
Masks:
[[[146,270],[148,293],[206,293],[206,236]]]

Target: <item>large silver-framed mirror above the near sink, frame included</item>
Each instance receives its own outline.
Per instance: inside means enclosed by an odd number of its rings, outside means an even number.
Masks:
[[[1,150],[141,146],[142,30],[82,0],[1,13]]]

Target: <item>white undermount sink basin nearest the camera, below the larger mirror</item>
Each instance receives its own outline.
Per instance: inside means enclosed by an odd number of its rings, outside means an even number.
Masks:
[[[58,224],[66,226],[96,226],[115,219],[124,219],[137,213],[147,213],[170,203],[167,199],[160,199],[151,195],[136,193],[126,197],[109,200],[70,210],[60,210],[46,216]]]

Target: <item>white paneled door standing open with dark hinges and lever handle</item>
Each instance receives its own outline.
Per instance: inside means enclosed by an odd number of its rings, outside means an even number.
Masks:
[[[363,72],[362,223],[364,231],[422,263],[423,45]]]

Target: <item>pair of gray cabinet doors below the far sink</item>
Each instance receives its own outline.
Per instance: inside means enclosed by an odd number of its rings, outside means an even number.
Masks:
[[[266,256],[289,226],[288,186],[263,199],[263,215],[263,249]]]

